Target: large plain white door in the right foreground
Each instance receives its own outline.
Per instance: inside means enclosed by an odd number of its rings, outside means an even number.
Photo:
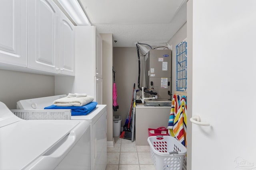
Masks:
[[[256,1],[193,1],[192,170],[256,169]],[[188,45],[189,46],[189,45]]]

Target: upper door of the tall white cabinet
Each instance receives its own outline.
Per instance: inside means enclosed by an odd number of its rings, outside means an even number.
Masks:
[[[102,38],[95,30],[95,75],[102,78]]]

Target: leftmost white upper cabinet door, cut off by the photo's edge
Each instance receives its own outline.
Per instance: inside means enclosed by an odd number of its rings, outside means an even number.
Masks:
[[[0,63],[27,65],[26,0],[2,0]]]

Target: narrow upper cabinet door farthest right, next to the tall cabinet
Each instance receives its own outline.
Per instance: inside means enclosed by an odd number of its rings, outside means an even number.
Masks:
[[[59,25],[59,68],[60,73],[75,75],[75,31],[73,23],[60,12]]]

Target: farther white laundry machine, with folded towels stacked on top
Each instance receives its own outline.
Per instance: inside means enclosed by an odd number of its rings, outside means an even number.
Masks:
[[[17,109],[44,109],[65,94],[20,100]],[[105,170],[107,164],[106,105],[97,105],[88,115],[71,116],[72,120],[86,120],[90,123],[91,169]]]

